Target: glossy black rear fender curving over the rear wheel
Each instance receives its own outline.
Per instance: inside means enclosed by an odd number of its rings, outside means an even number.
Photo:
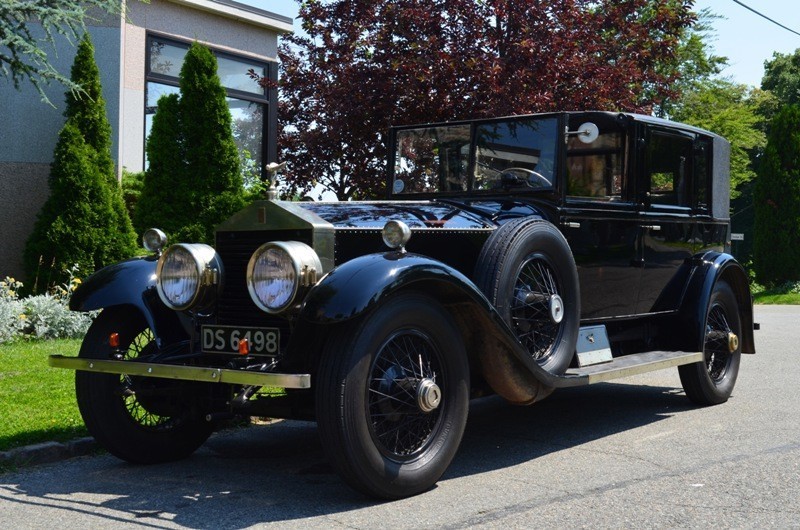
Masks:
[[[707,252],[692,259],[692,270],[681,301],[678,329],[688,330],[676,336],[688,337],[689,342],[681,345],[685,351],[702,351],[705,341],[705,322],[708,303],[714,285],[725,280],[733,289],[739,303],[742,321],[742,353],[755,353],[753,336],[753,300],[747,273],[730,254]]]

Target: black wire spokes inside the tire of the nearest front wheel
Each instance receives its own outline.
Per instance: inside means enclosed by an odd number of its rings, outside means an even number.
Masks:
[[[430,338],[418,330],[392,335],[372,364],[367,399],[372,436],[386,456],[407,459],[431,440],[441,416],[440,403],[433,410],[420,407],[425,385],[445,381],[440,354]],[[432,404],[431,404],[432,405]]]

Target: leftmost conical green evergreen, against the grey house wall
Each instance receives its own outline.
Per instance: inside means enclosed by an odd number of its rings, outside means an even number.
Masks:
[[[88,33],[78,45],[72,76],[86,90],[80,97],[67,94],[50,196],[25,247],[28,284],[37,290],[63,283],[74,264],[89,273],[129,257],[136,248],[109,151],[111,127]]]

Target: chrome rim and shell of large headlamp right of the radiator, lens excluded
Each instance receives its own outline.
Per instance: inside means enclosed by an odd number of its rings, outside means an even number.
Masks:
[[[261,300],[255,285],[254,270],[258,260],[270,249],[280,249],[289,258],[294,275],[292,289],[289,297],[279,306],[269,306]],[[300,241],[270,241],[264,243],[253,252],[247,263],[247,291],[253,303],[262,311],[269,314],[280,314],[290,310],[296,305],[301,292],[313,286],[318,275],[322,273],[322,263],[313,248]]]

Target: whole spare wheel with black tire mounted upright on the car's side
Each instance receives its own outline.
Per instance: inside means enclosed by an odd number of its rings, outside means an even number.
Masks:
[[[552,223],[515,219],[486,241],[475,283],[545,370],[562,374],[575,353],[580,287],[569,244]]]

